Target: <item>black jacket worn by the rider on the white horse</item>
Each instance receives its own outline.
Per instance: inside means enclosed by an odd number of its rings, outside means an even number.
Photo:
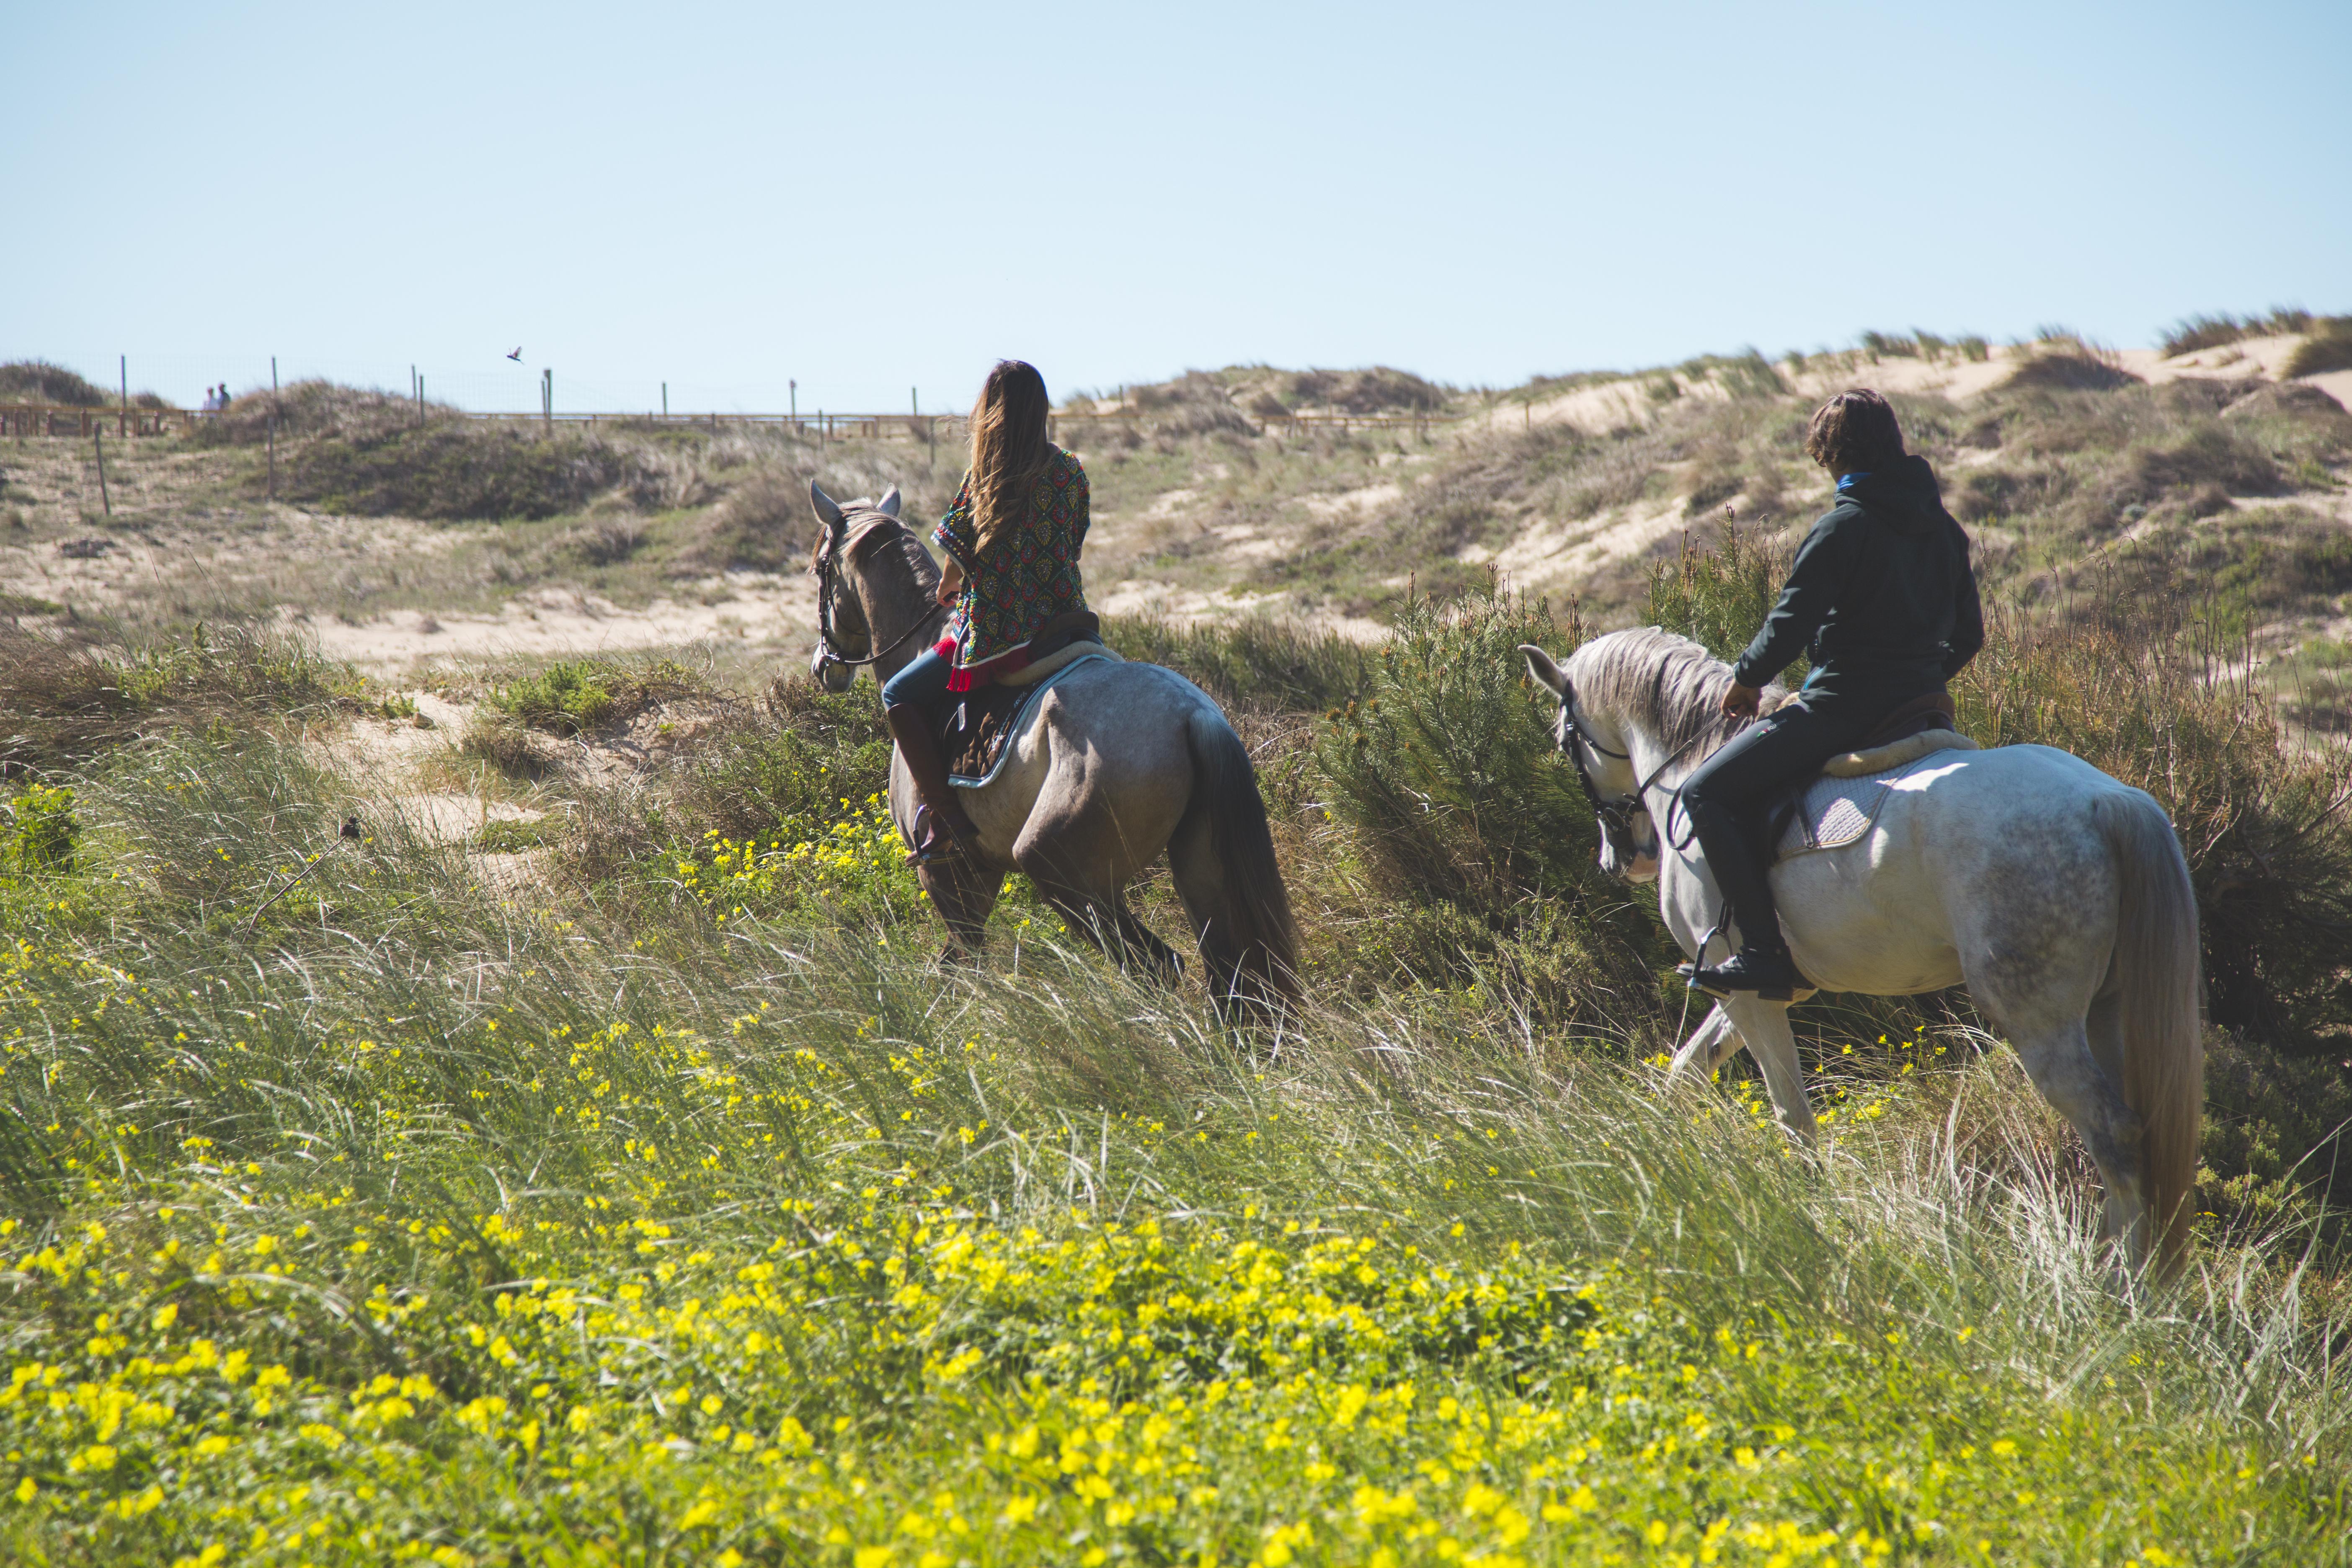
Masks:
[[[1959,675],[1980,646],[1969,536],[1943,510],[1936,470],[1905,456],[1839,480],[1837,505],[1804,536],[1780,602],[1733,672],[1762,686],[1811,651],[1809,696],[1903,701]]]

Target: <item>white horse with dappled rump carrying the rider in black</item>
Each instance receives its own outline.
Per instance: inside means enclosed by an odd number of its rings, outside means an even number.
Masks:
[[[1658,628],[1595,637],[1566,665],[1519,651],[1559,698],[1559,748],[1602,806],[1602,867],[1656,879],[1675,940],[1705,961],[1724,898],[1675,790],[1738,733],[1719,708],[1731,668]],[[1893,780],[1863,837],[1783,860],[1771,886],[1820,990],[1966,983],[2098,1164],[2107,1234],[2133,1267],[2150,1244],[2173,1267],[2204,1107],[2201,985],[2187,860],[2150,795],[2046,745],[1945,750]],[[1811,1140],[1788,1006],[1736,992],[1670,1079],[1745,1044],[1780,1126]]]

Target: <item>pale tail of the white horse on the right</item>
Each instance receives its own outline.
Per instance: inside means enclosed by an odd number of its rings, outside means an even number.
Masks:
[[[2197,889],[2164,806],[2145,792],[2100,795],[2091,811],[2122,896],[2112,973],[2124,1013],[2124,1103],[2140,1117],[2140,1180],[2157,1272],[2169,1276],[2190,1232],[2204,1117]]]

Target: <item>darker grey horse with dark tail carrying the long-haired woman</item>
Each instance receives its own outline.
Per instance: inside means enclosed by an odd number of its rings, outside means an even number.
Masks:
[[[837,503],[811,482],[809,503],[823,524],[809,557],[821,632],[809,672],[828,691],[847,691],[861,668],[887,682],[938,639],[938,569],[898,522],[896,487]],[[1087,661],[1030,708],[1009,748],[988,785],[964,790],[978,858],[917,870],[953,957],[981,950],[1004,875],[1018,870],[1103,952],[1178,978],[1183,959],[1127,907],[1127,884],[1164,849],[1218,1004],[1265,1016],[1296,1001],[1298,929],[1258,776],[1209,693],[1160,665]],[[908,844],[915,804],[894,755],[889,809]]]

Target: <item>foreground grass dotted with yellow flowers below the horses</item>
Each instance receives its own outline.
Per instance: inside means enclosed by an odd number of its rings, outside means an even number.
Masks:
[[[2343,1561],[2296,1237],[2117,1291],[1957,1034],[1799,1157],[1381,1001],[501,905],[350,799],[148,752],[136,919],[0,959],[14,1561]]]

